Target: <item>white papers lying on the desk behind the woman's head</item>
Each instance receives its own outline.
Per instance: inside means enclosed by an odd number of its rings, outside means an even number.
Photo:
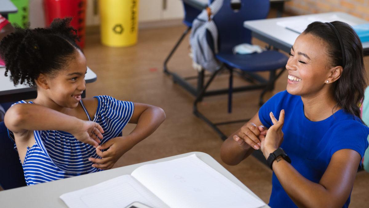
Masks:
[[[325,16],[325,17],[324,16],[321,16],[321,17],[314,16],[314,17],[307,17],[304,19],[283,20],[283,21],[278,21],[276,24],[278,26],[295,31],[296,33],[302,33],[306,29],[306,27],[314,21],[321,21],[323,23],[332,22],[332,21],[342,21],[351,26],[356,25],[356,23],[343,19],[341,17],[338,17],[336,14],[332,14],[331,16]]]

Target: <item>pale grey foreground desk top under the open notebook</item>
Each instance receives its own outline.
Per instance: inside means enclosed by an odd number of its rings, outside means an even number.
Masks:
[[[249,188],[247,188],[241,181],[239,181],[234,175],[228,172],[223,166],[221,166],[214,158],[204,152],[189,152],[186,154],[175,155],[172,157],[166,157],[159,160],[152,160],[148,162],[142,162],[134,165],[128,165],[125,167],[114,168],[107,171],[95,172],[87,175],[80,175],[72,178],[66,178],[62,180],[47,182],[43,184],[33,185],[30,187],[21,187],[10,189],[7,191],[0,191],[0,201],[3,207],[66,207],[64,202],[59,198],[60,195],[76,191],[85,187],[89,187],[100,182],[109,180],[111,178],[118,177],[120,175],[131,174],[136,168],[145,164],[152,164],[156,162],[163,162],[173,160],[180,157],[186,157],[191,154],[196,154],[200,160],[210,165],[212,168],[223,174],[229,180],[239,185],[245,191],[257,197]],[[252,180],[252,179],[250,179]],[[96,190],[97,192],[99,190]],[[21,200],[20,200],[21,198]],[[231,205],[231,204],[230,204]],[[265,205],[263,208],[269,207]]]

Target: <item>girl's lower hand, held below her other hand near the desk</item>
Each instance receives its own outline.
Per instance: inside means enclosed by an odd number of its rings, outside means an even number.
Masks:
[[[101,159],[90,157],[89,161],[94,163],[92,165],[94,168],[108,170],[112,168],[115,162],[117,162],[119,158],[133,146],[134,145],[131,144],[131,140],[127,137],[112,138],[96,148],[96,154],[99,155]],[[107,150],[101,151],[105,149]]]

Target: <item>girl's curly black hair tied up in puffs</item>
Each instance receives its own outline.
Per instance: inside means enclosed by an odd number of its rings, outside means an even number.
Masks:
[[[39,74],[52,74],[68,66],[68,60],[80,49],[77,30],[70,26],[72,18],[55,19],[50,27],[23,29],[15,27],[15,32],[0,42],[0,56],[6,66],[5,76],[10,71],[14,85],[27,83],[36,87]]]

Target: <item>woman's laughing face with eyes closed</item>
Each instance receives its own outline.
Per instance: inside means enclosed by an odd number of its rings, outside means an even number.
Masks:
[[[326,43],[311,34],[297,37],[286,65],[288,93],[314,96],[321,92],[330,76],[327,50]]]

